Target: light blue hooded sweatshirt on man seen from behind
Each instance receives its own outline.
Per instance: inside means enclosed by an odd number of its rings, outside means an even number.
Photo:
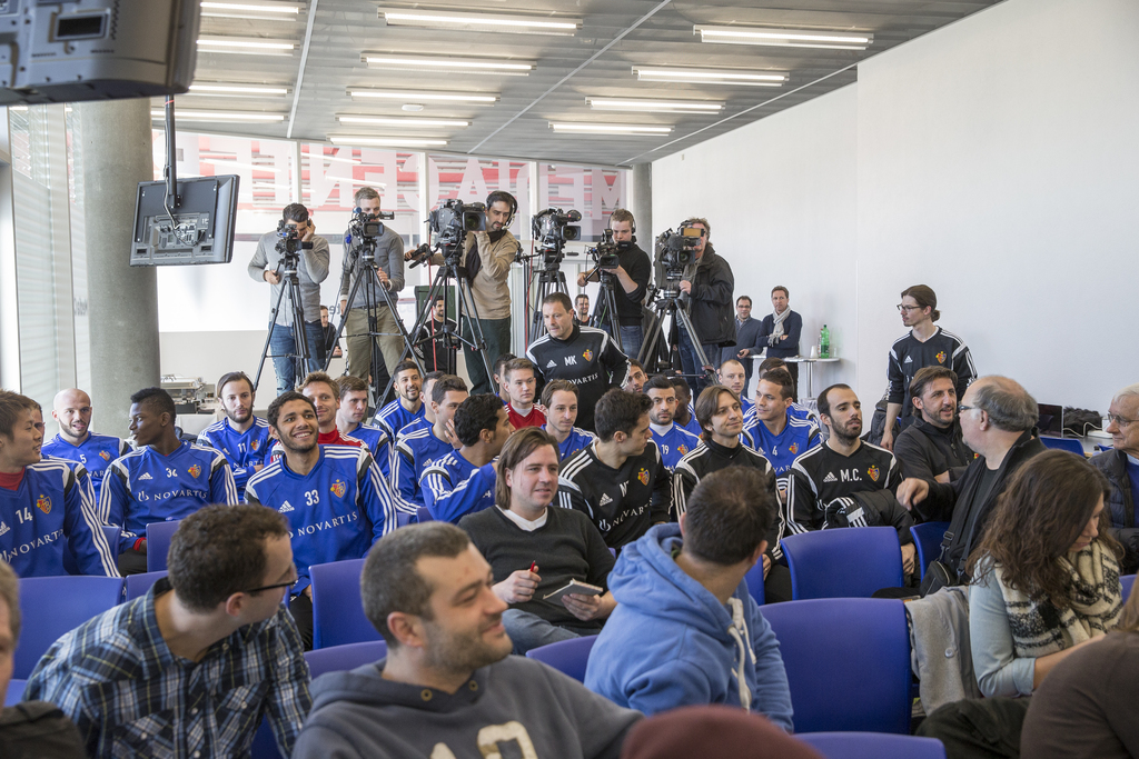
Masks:
[[[646,715],[722,703],[790,732],[779,642],[746,583],[720,603],[677,564],[680,545],[679,525],[657,525],[621,552],[609,572],[617,608],[590,652],[585,686]]]

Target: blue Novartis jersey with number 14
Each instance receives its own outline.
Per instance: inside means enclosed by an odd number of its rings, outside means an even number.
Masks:
[[[90,494],[76,478],[82,469],[47,457],[24,468],[15,490],[0,487],[0,559],[19,577],[66,575],[65,544],[84,575],[118,576]]]

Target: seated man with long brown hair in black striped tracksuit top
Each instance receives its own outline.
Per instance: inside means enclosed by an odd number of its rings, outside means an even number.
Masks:
[[[770,462],[762,453],[739,442],[739,430],[744,427],[744,412],[736,394],[723,385],[704,388],[700,397],[696,399],[696,419],[704,428],[700,444],[680,460],[672,473],[672,508],[677,518],[683,515],[688,496],[696,485],[712,472],[728,467],[759,470],[778,506],[776,475]],[[767,536],[768,550],[763,554],[763,580],[768,603],[790,601],[790,570],[779,547],[784,528],[782,510],[777,509],[776,518],[771,520],[771,531]]]

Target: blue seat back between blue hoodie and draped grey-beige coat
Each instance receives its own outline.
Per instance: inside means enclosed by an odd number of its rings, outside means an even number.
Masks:
[[[779,638],[796,733],[909,734],[910,636],[901,601],[789,601],[764,607],[763,617]]]

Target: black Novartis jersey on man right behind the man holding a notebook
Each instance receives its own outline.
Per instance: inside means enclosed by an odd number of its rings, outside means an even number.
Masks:
[[[669,521],[672,478],[652,440],[621,469],[598,459],[593,443],[562,464],[558,505],[589,514],[605,544],[620,548],[656,522]]]

